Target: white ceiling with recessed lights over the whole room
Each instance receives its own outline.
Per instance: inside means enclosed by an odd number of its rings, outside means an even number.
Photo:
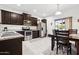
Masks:
[[[60,4],[59,9],[64,12],[71,8],[79,7],[78,4]],[[29,13],[40,18],[54,15],[57,10],[56,4],[0,4],[0,9],[10,9],[19,12]]]

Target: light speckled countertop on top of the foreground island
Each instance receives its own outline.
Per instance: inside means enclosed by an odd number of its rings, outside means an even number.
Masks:
[[[11,33],[13,33],[13,34],[11,34]],[[0,36],[0,41],[19,38],[19,37],[24,37],[24,36],[17,32],[7,32],[7,33],[3,34],[2,36]]]

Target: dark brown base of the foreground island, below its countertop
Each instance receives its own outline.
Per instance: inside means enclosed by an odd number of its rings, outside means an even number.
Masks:
[[[0,55],[22,55],[23,37],[0,41]]]

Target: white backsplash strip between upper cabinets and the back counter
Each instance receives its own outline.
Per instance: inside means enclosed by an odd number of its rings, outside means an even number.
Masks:
[[[0,31],[4,29],[4,27],[7,27],[8,30],[11,31],[19,31],[22,30],[22,27],[24,25],[7,25],[7,24],[0,24]],[[37,26],[30,26],[30,29],[37,30]]]

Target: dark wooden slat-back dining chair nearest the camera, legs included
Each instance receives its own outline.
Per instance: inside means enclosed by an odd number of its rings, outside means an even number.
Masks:
[[[66,48],[67,55],[71,54],[71,43],[69,42],[69,31],[68,30],[55,30],[56,33],[56,41],[57,41],[57,51],[56,54],[58,54],[58,49],[62,47]]]

